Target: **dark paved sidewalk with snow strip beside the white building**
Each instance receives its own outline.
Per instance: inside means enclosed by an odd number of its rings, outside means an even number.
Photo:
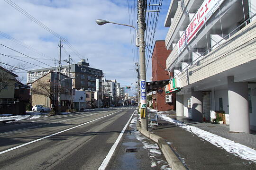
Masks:
[[[155,117],[154,110],[148,113]],[[191,121],[174,111],[157,114],[159,126],[149,131],[163,137],[188,169],[256,169],[256,135],[230,133],[227,125]]]

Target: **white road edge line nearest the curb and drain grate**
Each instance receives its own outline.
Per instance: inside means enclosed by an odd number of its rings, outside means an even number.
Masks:
[[[135,112],[135,110],[134,110]],[[134,114],[133,112],[133,114]],[[128,120],[127,124],[124,126],[123,130],[121,131],[120,135],[118,136],[116,142],[113,144],[113,146],[111,147],[109,153],[107,154],[107,156],[105,157],[105,159],[102,161],[101,163],[101,166],[99,167],[98,170],[105,170],[105,168],[107,167],[109,161],[110,161],[110,158],[112,157],[117,145],[119,144],[120,140],[121,140],[121,137],[123,136],[124,132],[125,132],[125,129],[127,128],[129,122],[131,121],[132,117],[133,117],[133,114],[131,115],[130,119]]]

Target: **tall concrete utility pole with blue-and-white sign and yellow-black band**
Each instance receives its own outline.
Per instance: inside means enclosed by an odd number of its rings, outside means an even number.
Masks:
[[[148,130],[147,127],[147,104],[146,104],[146,62],[145,62],[145,14],[146,14],[146,0],[138,0],[138,36],[139,36],[139,73],[140,73],[140,115],[141,127]]]

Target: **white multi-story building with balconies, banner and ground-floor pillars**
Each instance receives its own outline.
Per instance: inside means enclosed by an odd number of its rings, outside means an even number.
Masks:
[[[256,130],[255,7],[256,0],[171,1],[166,68],[182,88],[178,116],[213,121],[222,112],[230,131]]]

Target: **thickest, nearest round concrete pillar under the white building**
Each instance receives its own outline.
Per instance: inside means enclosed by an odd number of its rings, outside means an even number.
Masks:
[[[250,133],[247,82],[234,82],[234,76],[228,76],[229,130]]]

